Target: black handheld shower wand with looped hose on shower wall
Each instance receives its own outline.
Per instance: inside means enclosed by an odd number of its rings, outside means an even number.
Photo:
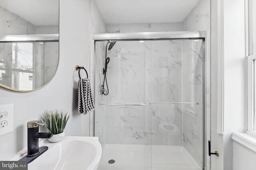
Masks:
[[[109,47],[108,47],[108,44]],[[108,82],[107,82],[107,69],[108,69],[108,63],[110,61],[110,58],[107,57],[107,47],[108,47],[108,51],[110,51],[113,46],[116,44],[116,41],[111,41],[111,40],[108,40],[108,43],[106,44],[106,54],[105,54],[105,68],[103,68],[103,74],[104,74],[104,80],[103,80],[103,85],[100,86],[100,91],[101,91],[101,94],[104,94],[105,96],[108,95]],[[105,89],[105,81],[106,81],[106,86],[107,86],[107,89]]]

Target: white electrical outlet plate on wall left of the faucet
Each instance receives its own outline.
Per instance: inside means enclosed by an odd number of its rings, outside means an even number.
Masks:
[[[0,135],[13,131],[14,104],[0,105]]]

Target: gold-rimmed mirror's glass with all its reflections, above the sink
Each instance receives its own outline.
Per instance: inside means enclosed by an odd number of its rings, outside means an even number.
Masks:
[[[58,0],[0,0],[0,86],[41,88],[59,61]]]

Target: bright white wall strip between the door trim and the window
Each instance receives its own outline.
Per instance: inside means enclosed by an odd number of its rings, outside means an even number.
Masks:
[[[245,5],[223,0],[224,16],[224,170],[232,170],[232,133],[244,132],[246,113]]]

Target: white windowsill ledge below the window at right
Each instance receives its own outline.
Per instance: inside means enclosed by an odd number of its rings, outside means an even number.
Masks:
[[[256,152],[256,137],[249,133],[233,133],[232,139]]]

